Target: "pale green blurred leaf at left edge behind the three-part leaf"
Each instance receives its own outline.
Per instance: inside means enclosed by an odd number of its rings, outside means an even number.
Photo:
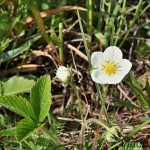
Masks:
[[[13,76],[9,79],[3,79],[0,86],[0,96],[30,91],[34,84],[35,80],[32,76]]]

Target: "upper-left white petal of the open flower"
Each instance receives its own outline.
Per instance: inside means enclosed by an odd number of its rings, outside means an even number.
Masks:
[[[103,52],[93,52],[91,55],[91,63],[94,68],[98,68],[103,62]]]

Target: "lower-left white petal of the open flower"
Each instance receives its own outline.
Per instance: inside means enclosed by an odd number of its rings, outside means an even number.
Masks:
[[[96,83],[106,84],[105,75],[100,69],[94,69],[91,73],[91,77]]]

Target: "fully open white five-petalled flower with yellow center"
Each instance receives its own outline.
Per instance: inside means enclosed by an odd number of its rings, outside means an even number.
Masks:
[[[110,46],[104,52],[93,52],[91,63],[94,67],[92,80],[100,84],[121,82],[132,67],[129,60],[122,59],[122,52],[116,46]]]

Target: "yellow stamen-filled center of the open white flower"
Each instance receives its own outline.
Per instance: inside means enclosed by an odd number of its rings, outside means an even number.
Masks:
[[[102,70],[105,71],[105,73],[109,76],[115,74],[118,70],[118,64],[115,61],[105,61],[105,63],[102,65]]]

